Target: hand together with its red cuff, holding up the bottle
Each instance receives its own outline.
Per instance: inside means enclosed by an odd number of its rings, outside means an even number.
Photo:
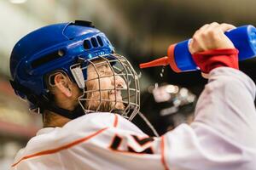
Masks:
[[[238,51],[225,31],[236,28],[229,24],[218,24],[202,26],[195,31],[189,42],[189,52],[200,67],[202,77],[208,78],[208,73],[219,66],[227,66],[238,69]]]

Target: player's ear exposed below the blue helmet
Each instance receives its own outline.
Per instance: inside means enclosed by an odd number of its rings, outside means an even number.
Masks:
[[[62,73],[57,73],[54,81],[56,88],[58,88],[62,94],[66,95],[68,98],[72,96],[72,91],[69,88],[72,87],[72,82],[67,76]]]

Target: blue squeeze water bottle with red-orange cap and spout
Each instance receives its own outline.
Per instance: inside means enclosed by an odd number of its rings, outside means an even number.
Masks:
[[[256,55],[256,28],[254,26],[240,26],[226,31],[225,35],[230,38],[234,46],[239,50],[239,60],[250,59]],[[143,63],[140,68],[170,65],[173,71],[196,71],[197,65],[189,53],[189,40],[172,44],[168,48],[168,56]]]

